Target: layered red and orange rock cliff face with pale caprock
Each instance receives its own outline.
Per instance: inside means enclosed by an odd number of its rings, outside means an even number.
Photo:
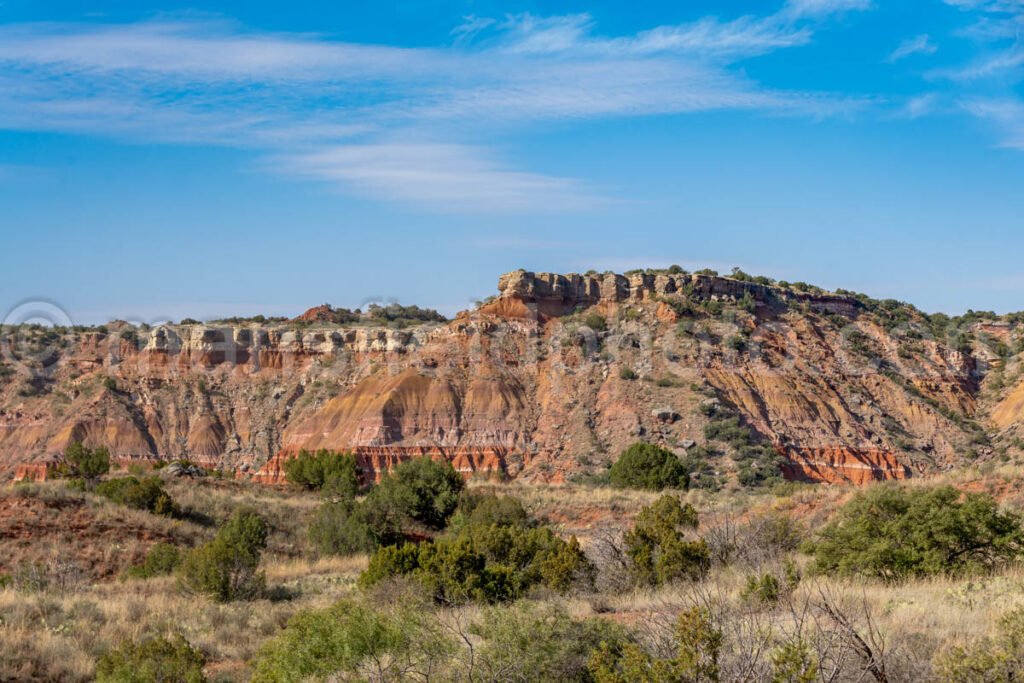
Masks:
[[[407,329],[326,313],[8,329],[0,472],[44,476],[83,440],[122,462],[185,458],[264,481],[301,449],[351,451],[368,476],[434,457],[558,481],[642,439],[689,450],[728,483],[750,450],[707,427],[732,420],[786,477],[860,483],[992,457],[985,429],[1015,430],[1024,411],[1019,387],[988,398],[980,353],[927,338],[912,315],[894,328],[854,296],[667,271],[520,270],[499,290]]]

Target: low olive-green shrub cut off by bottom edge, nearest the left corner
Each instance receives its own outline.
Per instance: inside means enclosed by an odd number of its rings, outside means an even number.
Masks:
[[[203,683],[203,653],[179,635],[124,642],[96,661],[98,683]]]

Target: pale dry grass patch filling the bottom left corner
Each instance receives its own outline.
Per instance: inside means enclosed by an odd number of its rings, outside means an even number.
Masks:
[[[0,680],[88,681],[95,658],[126,639],[178,632],[212,669],[246,677],[246,663],[302,609],[333,604],[354,588],[365,557],[264,563],[280,600],[216,604],[172,578],[98,584],[66,594],[0,591]],[[232,674],[233,672],[233,674]]]

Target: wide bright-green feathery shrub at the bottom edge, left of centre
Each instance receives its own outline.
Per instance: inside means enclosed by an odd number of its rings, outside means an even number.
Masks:
[[[429,620],[415,605],[375,609],[353,600],[299,612],[260,649],[252,681],[399,681],[435,672],[454,644]]]

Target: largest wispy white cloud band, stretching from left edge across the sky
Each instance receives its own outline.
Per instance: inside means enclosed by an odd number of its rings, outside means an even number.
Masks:
[[[460,140],[566,119],[856,109],[767,88],[736,65],[807,44],[816,18],[867,5],[792,0],[775,15],[617,37],[586,14],[468,17],[435,48],[222,20],[13,25],[0,27],[0,127],[249,147],[349,191],[445,210],[580,209],[597,193]]]

